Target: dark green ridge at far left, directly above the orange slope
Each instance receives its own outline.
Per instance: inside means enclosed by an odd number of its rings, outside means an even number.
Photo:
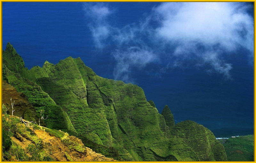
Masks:
[[[14,73],[18,72],[18,70],[14,72],[9,70],[9,68],[14,67],[7,68],[6,65],[12,65],[9,62],[15,64],[16,62],[22,61],[21,65],[23,66],[24,63],[22,59],[8,60],[9,58],[17,58],[15,56],[18,54],[10,44],[7,45],[6,49],[7,50],[3,52],[3,79],[6,80],[9,84],[11,84],[15,89],[17,89],[18,92],[24,93],[28,98],[28,102],[36,108],[36,112],[38,113],[37,115],[31,115],[31,111],[27,110],[27,112],[23,113],[23,117],[27,118],[27,120],[38,121],[39,117],[41,117],[39,113],[42,110],[45,114],[45,117],[48,118],[45,120],[41,120],[41,124],[46,125],[48,128],[62,129],[75,133],[76,131],[73,125],[71,124],[67,113],[63,111],[60,106],[56,105],[52,98],[47,93],[45,93],[39,85],[37,85],[35,82],[29,79],[23,78],[26,76],[30,76],[26,75],[30,74],[27,69],[24,69],[24,71],[22,71],[22,75]],[[13,51],[12,53],[11,50]],[[13,54],[14,56],[12,56],[11,54]],[[20,56],[18,56],[18,58],[19,57]],[[16,65],[20,64],[16,63]]]

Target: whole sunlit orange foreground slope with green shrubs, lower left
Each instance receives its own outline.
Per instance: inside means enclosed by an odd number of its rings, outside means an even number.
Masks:
[[[5,139],[10,140],[9,145],[4,143],[9,148],[4,150],[5,161],[114,161],[68,133],[22,121],[14,116],[3,117]]]

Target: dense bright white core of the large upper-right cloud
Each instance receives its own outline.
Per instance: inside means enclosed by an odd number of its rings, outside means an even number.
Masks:
[[[220,44],[228,51],[240,44],[253,46],[253,19],[241,10],[238,3],[190,2],[163,3],[155,11],[162,18],[156,35],[170,41]],[[173,10],[175,6],[175,10]],[[177,7],[178,6],[178,7]],[[241,35],[241,32],[244,32]]]

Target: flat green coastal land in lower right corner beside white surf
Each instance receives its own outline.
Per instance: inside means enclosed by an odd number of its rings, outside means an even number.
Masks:
[[[228,161],[253,161],[253,135],[228,138],[223,143]]]

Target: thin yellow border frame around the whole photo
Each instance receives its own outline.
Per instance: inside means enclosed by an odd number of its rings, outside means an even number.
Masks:
[[[254,149],[254,161],[216,161],[216,162],[255,162],[255,134],[256,134],[256,131],[255,131],[255,125],[256,125],[256,122],[255,122],[255,86],[256,86],[256,83],[255,83],[255,75],[256,75],[256,72],[255,72],[255,1],[256,0],[251,0],[251,1],[246,1],[246,0],[218,0],[218,1],[214,1],[214,0],[196,0],[196,1],[189,1],[189,0],[75,0],[75,1],[71,1],[71,0],[1,0],[1,7],[0,7],[0,11],[1,11],[1,22],[0,22],[0,25],[1,25],[1,33],[0,33],[0,37],[1,37],[1,42],[0,42],[0,47],[1,47],[1,64],[0,64],[0,69],[1,69],[1,76],[0,76],[0,83],[1,83],[1,95],[0,95],[0,98],[2,99],[2,66],[3,66],[3,62],[2,62],[2,56],[3,56],[3,2],[254,2],[253,4],[253,9],[254,9],[254,47],[253,47],[253,50],[254,50],[254,58],[253,58],[253,61],[254,61],[254,69],[253,69],[253,79],[254,79],[254,90],[253,90],[253,94],[254,94],[254,102],[253,102],[253,119],[254,119],[254,146],[253,146],[253,149]],[[1,104],[1,113],[2,113],[2,100],[0,102]],[[2,125],[2,116],[0,116],[0,124]],[[0,129],[0,138],[1,138],[1,149],[2,149],[2,127]],[[2,161],[2,150],[0,152],[0,162],[6,162],[6,161]],[[14,162],[18,162],[18,161],[14,161]],[[56,162],[56,161],[23,161],[23,162],[35,162],[35,163],[41,163],[41,162]],[[58,161],[58,162],[63,162],[63,161]],[[80,163],[81,161],[72,161],[72,162],[77,162],[77,163]],[[99,161],[98,161],[99,162]],[[121,161],[119,161],[121,162]],[[122,162],[127,162],[127,163],[131,163],[131,162],[149,162],[149,161],[122,161]],[[173,162],[173,161],[150,161],[150,162],[154,162],[154,163],[166,163],[166,162]],[[175,162],[178,162],[178,161],[175,161]],[[179,161],[181,163],[186,163],[186,161]],[[188,161],[187,161],[188,162]],[[200,161],[189,161],[189,162],[200,162]],[[209,162],[209,161],[201,161],[201,162]],[[107,161],[101,161],[99,163],[109,163]]]

